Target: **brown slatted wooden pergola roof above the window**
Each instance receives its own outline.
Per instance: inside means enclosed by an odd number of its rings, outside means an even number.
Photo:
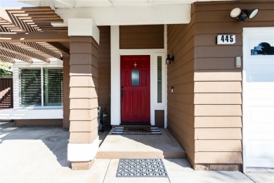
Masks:
[[[53,27],[63,20],[50,7],[0,9],[0,61],[50,63],[70,54],[67,27]]]

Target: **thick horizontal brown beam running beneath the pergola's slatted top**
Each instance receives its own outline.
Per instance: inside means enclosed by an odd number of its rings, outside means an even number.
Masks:
[[[67,31],[0,32],[1,42],[70,42]]]

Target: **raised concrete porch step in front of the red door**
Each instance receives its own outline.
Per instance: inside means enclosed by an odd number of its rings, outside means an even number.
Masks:
[[[98,159],[185,158],[185,150],[167,129],[159,134],[112,134],[100,145]]]

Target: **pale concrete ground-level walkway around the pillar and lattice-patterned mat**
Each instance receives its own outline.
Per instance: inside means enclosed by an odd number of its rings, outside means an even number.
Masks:
[[[163,178],[118,178],[118,159],[96,159],[91,170],[74,171],[67,162],[68,139],[61,127],[0,122],[0,182],[253,182],[241,172],[194,171],[185,159],[164,159],[169,177]]]

